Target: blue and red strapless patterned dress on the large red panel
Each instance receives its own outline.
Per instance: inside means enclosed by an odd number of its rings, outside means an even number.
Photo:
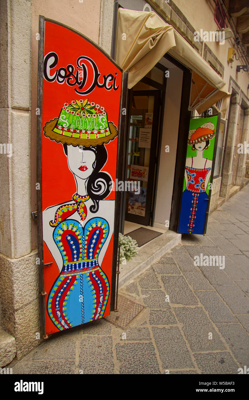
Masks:
[[[102,318],[110,286],[98,265],[98,255],[108,234],[104,218],[92,218],[84,228],[73,219],[65,219],[55,227],[53,238],[63,268],[50,290],[47,309],[59,330]]]

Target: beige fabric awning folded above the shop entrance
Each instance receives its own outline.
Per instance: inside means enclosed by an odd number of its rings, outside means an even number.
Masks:
[[[192,80],[197,84],[192,84],[191,88],[191,109],[201,114],[220,99],[229,99],[225,81],[173,26],[164,22],[155,12],[119,8],[116,61],[125,71],[129,71],[128,88],[139,82],[166,52],[195,74]],[[222,110],[223,118],[225,111]]]

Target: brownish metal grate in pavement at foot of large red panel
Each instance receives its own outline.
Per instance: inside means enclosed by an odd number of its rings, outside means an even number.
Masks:
[[[118,311],[111,311],[105,319],[112,324],[125,329],[127,325],[145,308],[141,304],[135,303],[124,296],[118,295]]]

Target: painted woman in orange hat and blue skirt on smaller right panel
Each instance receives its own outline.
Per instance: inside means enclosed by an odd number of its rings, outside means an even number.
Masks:
[[[186,189],[181,200],[178,228],[180,233],[203,233],[207,210],[206,189],[212,168],[212,161],[203,157],[203,151],[208,148],[214,131],[215,127],[211,122],[189,131],[188,144],[192,145],[192,150],[197,150],[197,154],[186,158]]]

